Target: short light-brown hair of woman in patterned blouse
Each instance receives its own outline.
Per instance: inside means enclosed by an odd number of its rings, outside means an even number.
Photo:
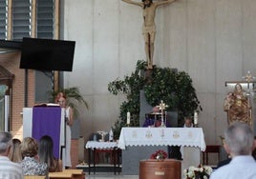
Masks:
[[[20,151],[23,157],[34,157],[38,151],[38,143],[32,137],[26,137],[20,144]]]

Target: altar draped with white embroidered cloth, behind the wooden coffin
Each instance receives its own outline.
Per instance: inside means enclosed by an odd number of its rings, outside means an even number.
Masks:
[[[122,128],[118,148],[122,149],[122,173],[138,175],[139,161],[149,159],[158,149],[183,147],[181,170],[201,163],[205,150],[202,128]]]

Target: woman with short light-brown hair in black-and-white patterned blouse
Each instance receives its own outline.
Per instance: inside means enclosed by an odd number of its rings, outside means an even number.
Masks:
[[[32,137],[26,137],[20,144],[23,160],[20,162],[24,175],[47,175],[48,167],[46,163],[38,160],[38,143]]]

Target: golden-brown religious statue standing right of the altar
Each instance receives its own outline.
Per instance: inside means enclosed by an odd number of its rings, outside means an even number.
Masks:
[[[224,111],[227,113],[228,125],[236,121],[251,125],[251,105],[249,97],[240,83],[235,85],[233,91],[229,91],[224,98]]]

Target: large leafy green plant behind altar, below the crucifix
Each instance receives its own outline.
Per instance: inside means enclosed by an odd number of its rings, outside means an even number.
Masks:
[[[127,101],[120,106],[120,116],[113,127],[116,139],[120,129],[126,125],[127,111],[132,114],[130,126],[139,127],[141,89],[144,89],[146,100],[152,107],[159,105],[160,100],[163,100],[168,105],[167,110],[177,110],[180,125],[185,116],[192,116],[195,110],[202,110],[192,79],[186,72],[157,66],[154,66],[153,70],[147,70],[146,66],[145,61],[139,60],[131,76],[124,76],[124,80],[117,79],[108,84],[108,90],[114,95],[124,93],[127,96]]]

